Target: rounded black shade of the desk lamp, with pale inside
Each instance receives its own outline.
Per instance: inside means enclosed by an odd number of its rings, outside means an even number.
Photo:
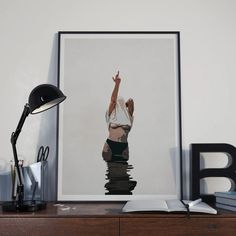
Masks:
[[[41,84],[35,87],[29,95],[31,114],[48,110],[66,99],[59,88],[52,84]]]

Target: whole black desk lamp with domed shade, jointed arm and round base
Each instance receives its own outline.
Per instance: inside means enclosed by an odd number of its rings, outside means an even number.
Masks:
[[[41,84],[35,87],[29,95],[29,102],[25,104],[20,121],[17,125],[15,132],[11,135],[11,144],[14,154],[14,162],[16,173],[18,176],[17,184],[17,199],[15,201],[3,202],[3,211],[37,211],[46,208],[44,201],[25,201],[24,200],[24,185],[19,168],[19,160],[16,151],[16,141],[21,132],[26,117],[31,114],[40,113],[48,110],[66,99],[66,96],[54,85]]]

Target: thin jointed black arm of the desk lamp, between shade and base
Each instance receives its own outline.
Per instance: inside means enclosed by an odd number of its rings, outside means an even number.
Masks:
[[[19,179],[19,184],[17,185],[17,193],[18,193],[19,202],[22,202],[24,200],[24,185],[22,181],[23,176],[21,176],[20,167],[19,167],[19,160],[18,160],[18,155],[17,155],[17,150],[16,150],[16,141],[24,125],[25,119],[29,115],[29,113],[30,113],[29,104],[26,104],[22,112],[21,118],[19,120],[19,123],[16,127],[16,130],[11,135],[11,144],[12,144],[12,150],[13,150],[13,155],[14,155],[14,162],[15,162],[17,176]]]

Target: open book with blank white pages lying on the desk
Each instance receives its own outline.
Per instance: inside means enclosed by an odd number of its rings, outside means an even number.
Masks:
[[[149,200],[131,200],[128,201],[123,207],[123,212],[135,212],[135,211],[165,211],[165,212],[187,212],[189,208],[190,212],[217,214],[217,211],[207,205],[204,202],[197,202],[197,204],[191,204],[192,201],[183,201],[171,199],[149,199]],[[188,205],[187,205],[188,204]]]

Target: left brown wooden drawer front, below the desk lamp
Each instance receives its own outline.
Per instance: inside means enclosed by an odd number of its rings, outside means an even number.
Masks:
[[[1,236],[119,235],[119,218],[1,218]]]

